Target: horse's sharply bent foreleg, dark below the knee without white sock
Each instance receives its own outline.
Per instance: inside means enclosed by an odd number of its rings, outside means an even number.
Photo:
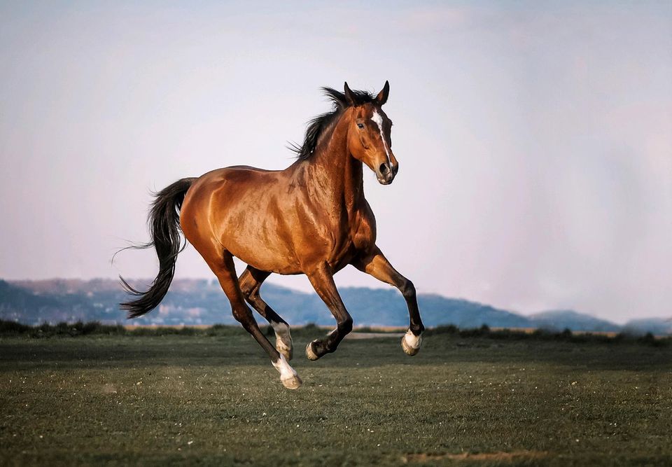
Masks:
[[[324,354],[329,354],[336,350],[339,342],[352,330],[352,318],[345,305],[343,305],[341,296],[338,294],[336,284],[334,283],[334,276],[328,265],[323,264],[306,275],[317,294],[336,319],[335,330],[332,330],[322,339],[308,342],[306,356],[310,360],[317,360]]]

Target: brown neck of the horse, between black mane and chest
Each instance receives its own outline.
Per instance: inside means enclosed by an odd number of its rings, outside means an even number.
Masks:
[[[336,123],[331,135],[325,135],[309,160],[316,188],[335,205],[348,211],[355,209],[364,197],[363,165],[348,151],[349,113]]]

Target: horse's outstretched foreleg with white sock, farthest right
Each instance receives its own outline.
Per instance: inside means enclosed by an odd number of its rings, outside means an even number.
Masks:
[[[402,295],[404,295],[406,305],[408,306],[410,325],[407,333],[402,337],[401,347],[408,355],[417,354],[420,350],[420,336],[425,327],[420,319],[418,299],[416,298],[413,283],[399,274],[397,270],[392,267],[377,246],[371,253],[358,258],[356,261],[353,261],[352,264],[358,270],[372,275],[379,281],[395,286],[399,289]]]

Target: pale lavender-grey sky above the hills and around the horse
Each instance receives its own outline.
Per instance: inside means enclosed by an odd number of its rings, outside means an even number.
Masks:
[[[0,1],[0,63],[0,278],[154,277],[110,261],[152,190],[283,169],[321,86],[389,80],[400,172],[365,193],[420,292],[672,316],[668,1]],[[214,278],[193,248],[176,277]]]

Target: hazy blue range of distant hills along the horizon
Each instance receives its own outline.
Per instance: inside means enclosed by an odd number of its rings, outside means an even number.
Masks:
[[[151,280],[135,280],[145,289]],[[408,312],[402,295],[394,288],[344,287],[339,292],[356,326],[407,326]],[[334,319],[315,293],[303,293],[266,283],[262,296],[290,324],[332,325]],[[0,319],[27,324],[60,321],[101,321],[133,324],[232,324],[230,305],[219,284],[207,279],[177,279],[158,309],[128,321],[118,303],[129,297],[113,279],[51,279],[44,281],[3,281],[0,279]],[[563,330],[619,331],[621,327],[573,310],[542,312],[522,316],[468,300],[419,294],[418,301],[426,326],[454,324],[476,328],[552,328]],[[637,333],[654,326],[666,330],[665,322],[650,320],[633,325]],[[262,321],[263,322],[263,321]],[[669,323],[668,323],[669,324]]]

